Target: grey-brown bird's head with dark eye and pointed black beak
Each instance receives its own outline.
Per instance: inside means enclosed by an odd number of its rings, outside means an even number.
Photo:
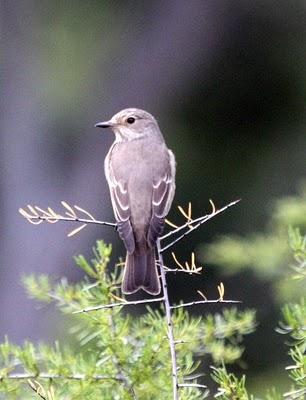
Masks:
[[[138,108],[127,108],[119,111],[109,121],[98,122],[96,128],[111,128],[116,141],[125,142],[145,136],[161,136],[158,124],[153,115]]]

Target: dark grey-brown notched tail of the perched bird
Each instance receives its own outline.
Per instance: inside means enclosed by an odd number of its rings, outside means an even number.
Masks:
[[[122,291],[129,294],[139,289],[152,295],[160,292],[154,248],[135,249],[126,255]]]

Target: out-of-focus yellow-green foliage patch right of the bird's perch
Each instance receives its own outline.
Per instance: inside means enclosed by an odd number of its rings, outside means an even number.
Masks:
[[[289,238],[288,227],[294,227],[289,228]],[[202,247],[202,258],[226,274],[251,269],[258,278],[271,284],[277,302],[296,300],[303,295],[304,287],[289,278],[288,265],[292,263],[293,251],[295,276],[306,275],[303,264],[306,243],[299,229],[306,230],[306,184],[301,185],[297,195],[274,202],[264,232],[245,237],[221,236]]]

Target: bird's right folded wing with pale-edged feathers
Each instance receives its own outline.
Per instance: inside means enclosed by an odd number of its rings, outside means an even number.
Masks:
[[[165,174],[153,182],[152,218],[148,230],[148,244],[154,247],[161,235],[165,217],[169,212],[175,192],[175,159],[169,150],[169,164]]]

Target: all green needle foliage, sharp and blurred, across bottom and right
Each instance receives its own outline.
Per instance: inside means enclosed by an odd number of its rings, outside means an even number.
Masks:
[[[306,396],[306,300],[303,296],[297,300],[301,290],[295,290],[306,278],[306,236],[301,234],[303,207],[299,198],[279,201],[265,235],[227,237],[209,246],[210,257],[217,264],[231,265],[236,270],[253,267],[277,287],[291,278],[286,285],[296,300],[283,306],[276,329],[285,335],[290,346],[286,370],[291,383],[286,393],[272,389],[265,400],[304,400]],[[299,218],[301,223],[296,223]],[[285,224],[289,222],[292,224],[288,232]],[[84,272],[79,283],[71,284],[65,278],[56,282],[46,275],[24,278],[30,297],[54,303],[66,316],[70,326],[68,341],[75,344],[25,342],[17,346],[5,338],[0,345],[1,399],[172,399],[172,365],[163,304],[146,305],[143,314],[131,314],[120,291],[121,266],[110,268],[111,246],[98,241],[93,253],[90,261],[83,256],[75,258]],[[86,311],[101,305],[103,308]],[[243,336],[255,329],[254,311],[231,307],[194,317],[180,307],[172,309],[172,322],[181,400],[259,400],[249,393],[246,376],[235,376],[228,366],[242,357]],[[202,377],[203,362],[213,365],[211,377]],[[210,378],[217,388],[209,392],[205,385],[211,387]]]

